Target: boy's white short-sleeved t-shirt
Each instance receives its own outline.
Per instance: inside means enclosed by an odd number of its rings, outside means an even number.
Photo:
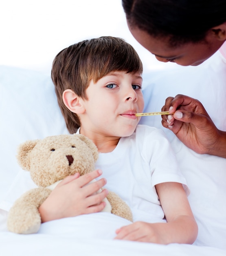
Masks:
[[[134,221],[165,222],[156,184],[179,182],[189,193],[167,137],[154,127],[138,125],[112,152],[99,153],[95,167],[103,171],[105,187],[132,209]]]

